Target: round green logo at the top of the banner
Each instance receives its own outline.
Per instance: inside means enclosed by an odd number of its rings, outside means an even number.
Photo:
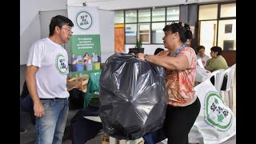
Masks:
[[[82,30],[89,30],[93,24],[93,18],[87,11],[80,11],[76,17],[76,24]]]

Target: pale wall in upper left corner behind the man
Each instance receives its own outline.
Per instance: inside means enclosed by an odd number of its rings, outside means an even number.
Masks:
[[[40,39],[39,11],[64,10],[66,0],[20,0],[20,65],[26,64],[30,46]]]

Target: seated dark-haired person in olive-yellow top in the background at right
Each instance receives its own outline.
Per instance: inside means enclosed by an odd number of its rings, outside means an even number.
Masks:
[[[206,62],[205,69],[213,72],[215,70],[227,69],[226,59],[222,57],[222,48],[219,46],[213,46],[210,48],[211,58]]]

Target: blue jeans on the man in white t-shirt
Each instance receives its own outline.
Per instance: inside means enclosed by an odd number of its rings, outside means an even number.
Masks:
[[[35,118],[35,144],[62,144],[69,112],[68,99],[41,99],[41,102],[45,115],[42,118]]]

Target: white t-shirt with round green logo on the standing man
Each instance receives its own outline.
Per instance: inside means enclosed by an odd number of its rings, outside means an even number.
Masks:
[[[68,55],[50,38],[34,42],[26,66],[38,66],[35,74],[39,98],[68,98],[66,78],[69,74]]]

